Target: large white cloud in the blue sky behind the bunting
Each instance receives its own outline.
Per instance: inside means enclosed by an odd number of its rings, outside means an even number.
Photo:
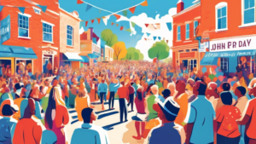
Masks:
[[[124,16],[122,16],[117,21],[132,21],[135,22],[137,26],[142,27],[143,37],[137,42],[136,49],[140,49],[140,51],[144,55],[144,60],[151,60],[148,58],[148,49],[152,47],[152,45],[155,42],[160,42],[158,38],[154,41],[154,37],[161,37],[161,39],[165,38],[165,40],[168,40],[168,46],[172,47],[172,31],[170,32],[168,27],[166,26],[167,22],[172,22],[172,15],[177,14],[177,9],[172,8],[169,9],[168,14],[162,16],[160,18],[160,14],[157,14],[155,16],[155,19],[148,17],[147,14],[139,14],[138,16],[132,16],[130,20]],[[160,23],[160,29],[159,30],[150,30],[148,27],[145,26],[145,24],[158,24]],[[173,26],[173,25],[172,25]],[[131,26],[132,27],[132,26]],[[147,36],[147,33],[150,33],[150,36]],[[136,34],[135,29],[132,29],[132,33]],[[145,40],[144,38],[149,38],[152,40]],[[170,52],[170,57],[172,57],[172,52]]]

